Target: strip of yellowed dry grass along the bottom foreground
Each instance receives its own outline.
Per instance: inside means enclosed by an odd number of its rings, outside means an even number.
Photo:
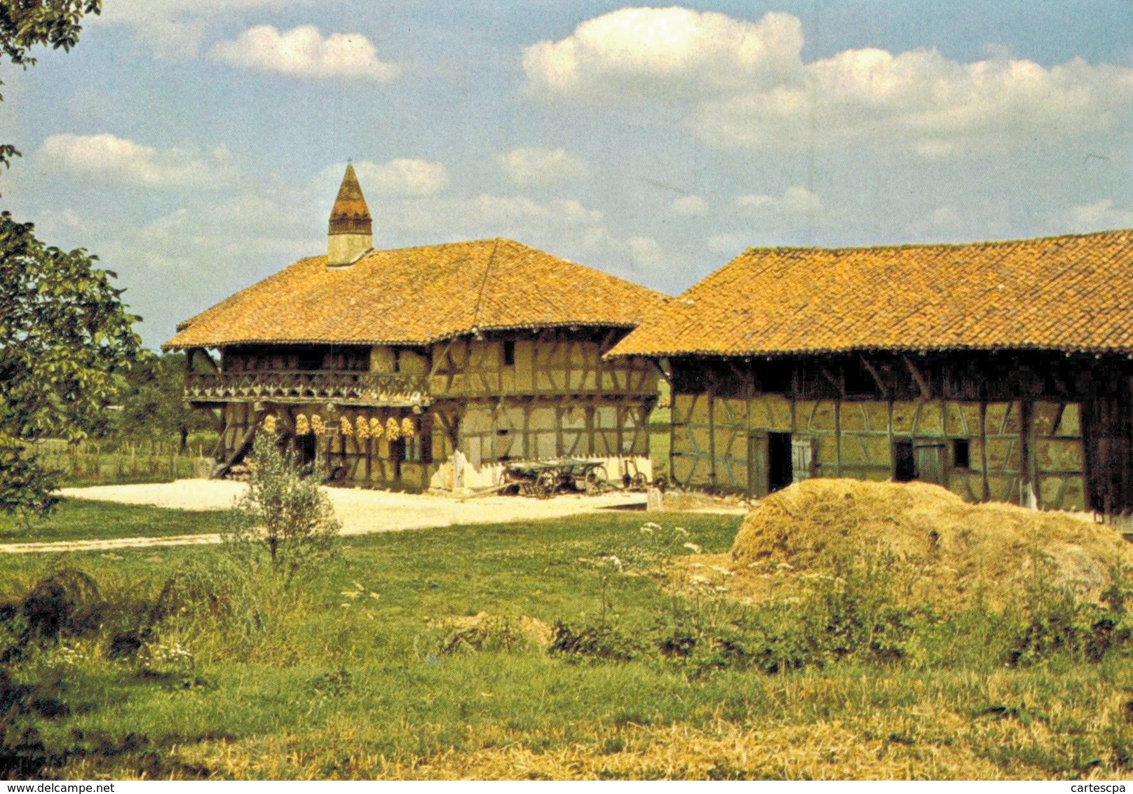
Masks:
[[[577,723],[516,730],[378,726],[349,717],[320,730],[177,747],[181,768],[221,778],[384,779],[1127,779],[1118,758],[1128,692],[1051,691],[1037,676],[894,679],[801,676],[772,685],[775,706],[746,719]],[[1089,690],[1089,687],[1085,687]],[[1108,732],[1108,733],[1107,733]],[[428,750],[409,751],[401,734]],[[393,740],[399,747],[390,752]]]

